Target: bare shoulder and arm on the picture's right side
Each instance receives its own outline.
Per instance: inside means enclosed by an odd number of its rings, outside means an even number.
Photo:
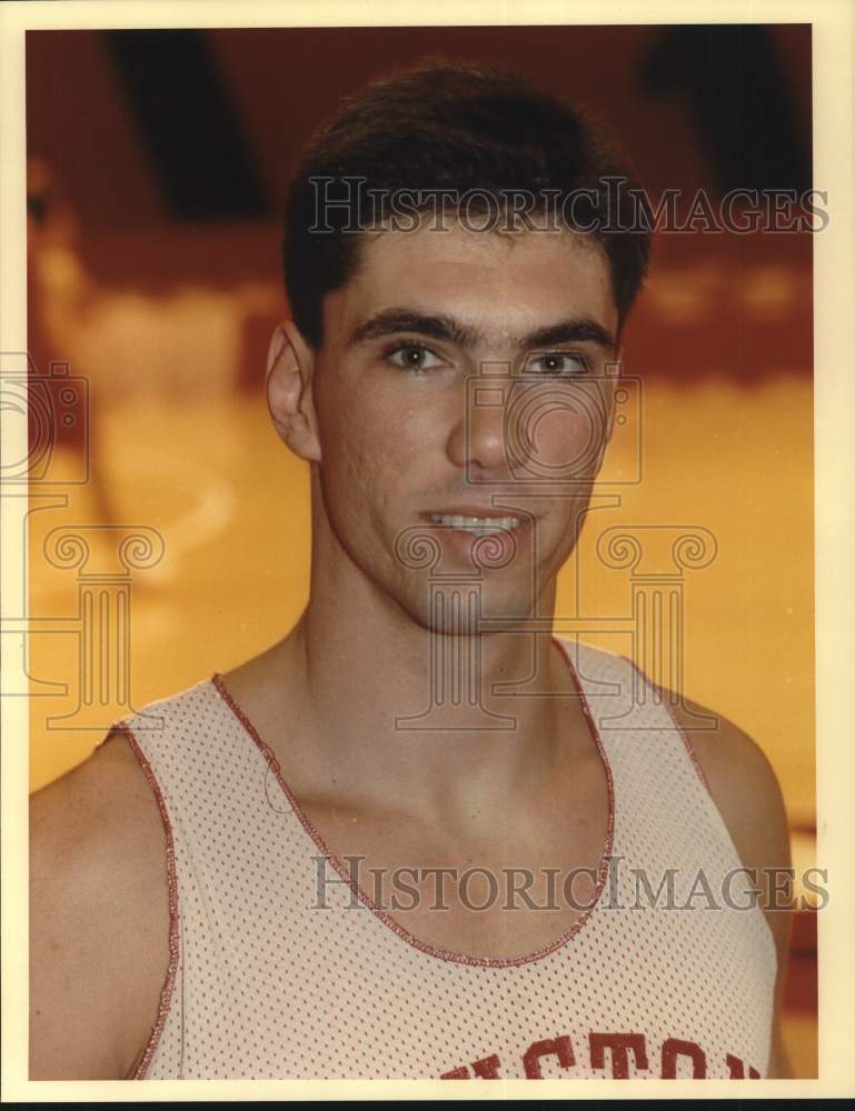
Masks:
[[[739,859],[752,874],[775,942],[778,972],[767,1075],[787,1078],[792,1072],[782,1039],[781,1012],[792,932],[793,881],[789,824],[781,783],[759,744],[724,714],[689,699],[672,705]],[[698,717],[714,718],[714,728],[698,728]]]

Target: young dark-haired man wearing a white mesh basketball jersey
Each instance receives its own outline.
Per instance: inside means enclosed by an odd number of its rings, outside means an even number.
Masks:
[[[619,172],[445,63],[314,140],[267,378],[310,600],[33,798],[33,1078],[787,1074],[768,762],[550,633],[647,261]]]

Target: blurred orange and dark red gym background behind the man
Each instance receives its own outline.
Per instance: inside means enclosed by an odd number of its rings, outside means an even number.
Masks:
[[[811,182],[809,26],[29,31],[30,390],[83,383],[30,487],[33,789],[131,705],[227,671],[299,617],[308,470],[262,393],[287,313],[285,182],[344,93],[427,53],[515,66],[594,108],[653,196]],[[816,825],[811,263],[809,234],[656,237],[625,344],[642,408],[609,447],[557,605],[629,654],[629,578],[597,557],[600,533],[715,537],[712,563],[685,573],[683,687],[768,755],[797,873]],[[57,529],[86,537],[82,567],[58,557]],[[162,557],[129,573],[117,546],[133,529]],[[81,692],[92,597],[127,610],[121,681],[101,698]],[[785,1025],[799,1077],[816,1075],[815,938],[805,910]]]

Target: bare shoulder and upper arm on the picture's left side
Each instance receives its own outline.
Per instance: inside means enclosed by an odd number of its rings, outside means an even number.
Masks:
[[[158,800],[120,731],[31,797],[31,1079],[136,1068],[169,964],[166,861]]]

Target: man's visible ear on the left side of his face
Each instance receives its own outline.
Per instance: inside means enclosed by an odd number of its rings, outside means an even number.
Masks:
[[[277,324],[267,356],[267,408],[276,431],[310,463],[320,462],[311,394],[315,353],[291,320]]]

